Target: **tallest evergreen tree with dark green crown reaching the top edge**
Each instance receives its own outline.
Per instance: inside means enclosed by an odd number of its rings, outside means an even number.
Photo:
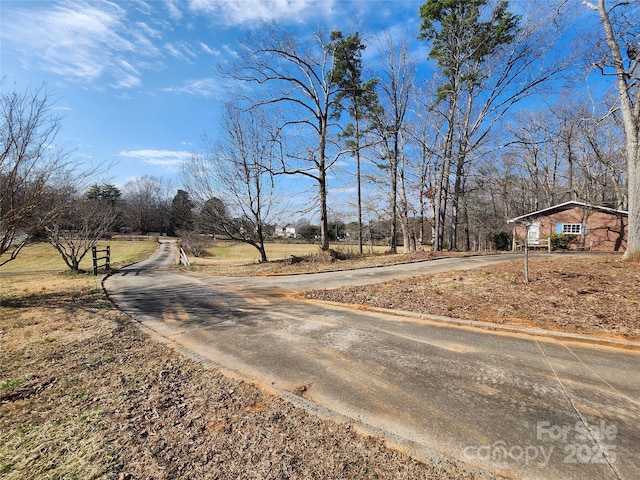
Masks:
[[[420,39],[431,42],[429,58],[441,70],[443,83],[437,101],[446,101],[446,139],[436,192],[434,250],[444,245],[444,225],[449,196],[450,169],[456,168],[451,248],[456,248],[457,204],[463,186],[464,166],[471,149],[469,126],[473,102],[490,72],[485,67],[503,45],[514,41],[520,17],[500,1],[491,8],[487,0],[427,0],[420,7]],[[505,78],[508,78],[508,72]],[[460,125],[465,126],[460,129]],[[460,129],[461,132],[457,132]]]

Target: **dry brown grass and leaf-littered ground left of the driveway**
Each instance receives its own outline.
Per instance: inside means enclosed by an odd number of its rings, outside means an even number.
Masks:
[[[2,298],[2,479],[479,477],[205,368],[91,284]]]

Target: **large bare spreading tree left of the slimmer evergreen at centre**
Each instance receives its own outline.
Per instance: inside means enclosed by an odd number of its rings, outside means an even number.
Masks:
[[[258,37],[247,38],[244,56],[226,75],[262,87],[258,92],[262,99],[245,98],[250,108],[286,107],[287,116],[278,125],[278,136],[285,143],[276,173],[302,175],[317,185],[321,248],[326,251],[328,172],[348,152],[337,146],[332,135],[331,114],[338,108],[341,91],[334,71],[337,44],[320,31],[312,40],[300,43],[276,24],[265,24],[260,32]],[[294,139],[295,144],[287,148],[286,142]]]

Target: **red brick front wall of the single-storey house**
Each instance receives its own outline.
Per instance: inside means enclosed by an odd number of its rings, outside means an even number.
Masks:
[[[556,233],[558,223],[586,223],[587,233],[584,236],[584,246],[591,247],[596,252],[623,252],[627,247],[627,218],[594,211],[587,212],[582,208],[572,208],[552,215],[540,216],[529,220],[530,223],[540,223],[540,239]],[[515,228],[516,240],[524,239],[525,227]],[[578,235],[578,237],[581,237]]]

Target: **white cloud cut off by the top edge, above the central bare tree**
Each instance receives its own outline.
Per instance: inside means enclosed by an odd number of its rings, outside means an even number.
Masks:
[[[190,0],[189,8],[221,17],[226,24],[241,25],[263,20],[300,22],[330,13],[334,3],[335,0]]]

